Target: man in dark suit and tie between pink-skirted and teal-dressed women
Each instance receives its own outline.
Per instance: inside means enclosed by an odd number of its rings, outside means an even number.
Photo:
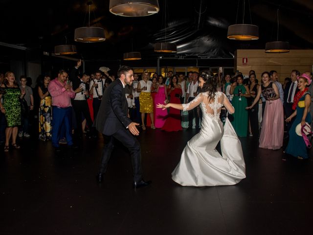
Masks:
[[[298,89],[298,76],[300,72],[297,70],[291,71],[291,81],[286,84],[285,91],[284,91],[284,109],[285,109],[285,116],[288,118],[293,113],[292,104],[293,98],[295,94],[299,91]],[[294,119],[294,118],[293,118]],[[293,120],[287,123],[287,130],[289,131],[291,128]]]

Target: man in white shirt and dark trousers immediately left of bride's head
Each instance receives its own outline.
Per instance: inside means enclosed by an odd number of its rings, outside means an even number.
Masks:
[[[189,103],[198,95],[198,93],[197,93],[198,86],[199,86],[198,76],[199,76],[198,72],[192,73],[192,82],[189,84],[189,86],[187,88],[187,92],[186,92],[186,103]],[[197,109],[192,109],[192,110],[188,111],[189,124],[188,124],[187,130],[192,129],[192,124],[193,124],[194,118],[196,118],[196,129],[199,129],[200,120],[199,120],[199,115],[197,113]]]

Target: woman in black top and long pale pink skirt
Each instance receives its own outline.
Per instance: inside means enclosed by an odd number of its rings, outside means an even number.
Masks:
[[[269,81],[269,73],[262,73],[262,85],[258,88],[258,94],[254,98],[251,109],[260,99],[266,99],[265,111],[262,121],[262,129],[259,140],[260,148],[280,149],[284,138],[284,109],[279,99],[278,88],[275,83]]]

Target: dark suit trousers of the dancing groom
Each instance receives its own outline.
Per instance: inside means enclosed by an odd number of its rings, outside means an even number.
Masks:
[[[130,151],[133,165],[134,182],[139,182],[142,180],[140,143],[129,132],[129,130],[125,128],[117,130],[112,136],[104,135],[105,145],[103,146],[102,150],[102,160],[99,173],[104,174],[107,171],[108,162],[114,148],[114,139],[121,141],[122,144]]]

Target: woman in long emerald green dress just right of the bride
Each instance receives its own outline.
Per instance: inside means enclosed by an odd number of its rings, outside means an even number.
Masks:
[[[238,74],[237,82],[231,85],[230,94],[234,97],[231,104],[235,108],[235,113],[233,114],[234,120],[232,125],[239,137],[246,137],[248,130],[248,112],[246,110],[247,97],[250,97],[249,88],[243,84],[244,77],[242,74]]]

